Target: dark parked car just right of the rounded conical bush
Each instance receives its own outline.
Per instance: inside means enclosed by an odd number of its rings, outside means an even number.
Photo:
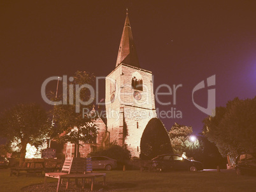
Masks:
[[[161,154],[152,159],[153,168],[158,170],[203,170],[203,163],[183,158],[179,154]]]

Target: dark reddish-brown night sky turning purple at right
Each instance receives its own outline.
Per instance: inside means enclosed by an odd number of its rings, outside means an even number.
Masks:
[[[182,84],[176,105],[171,95],[160,97],[169,106],[156,102],[160,111],[182,113],[161,119],[167,130],[177,122],[201,132],[207,115],[192,103],[192,90],[212,75],[217,106],[255,97],[255,1],[1,1],[0,110],[17,102],[50,109],[40,93],[50,76],[107,76],[115,69],[126,8],[139,64],[152,71],[154,90]],[[56,83],[47,90],[55,92]],[[194,97],[207,106],[206,89]]]

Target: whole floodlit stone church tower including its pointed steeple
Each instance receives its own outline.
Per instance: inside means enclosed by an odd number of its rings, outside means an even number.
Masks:
[[[106,115],[110,142],[139,157],[140,142],[149,120],[156,117],[152,72],[141,69],[128,13],[115,69],[106,77]]]

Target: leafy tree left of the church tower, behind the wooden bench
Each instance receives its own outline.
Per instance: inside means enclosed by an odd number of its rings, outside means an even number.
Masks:
[[[76,144],[76,156],[79,156],[80,142],[93,142],[96,138],[97,127],[94,120],[97,118],[96,113],[83,114],[82,102],[93,100],[89,88],[81,88],[83,85],[90,85],[94,80],[93,74],[85,71],[77,71],[73,77],[73,81],[67,85],[67,93],[73,93],[73,99],[68,95],[60,95],[61,98],[66,98],[67,104],[60,104],[53,107],[54,128],[52,137],[60,142],[71,142]],[[76,92],[76,86],[81,88],[80,92]],[[73,90],[71,90],[73,88]],[[50,93],[50,95],[54,95]],[[60,100],[60,97],[57,100]],[[55,99],[55,97],[52,97]],[[92,109],[92,105],[87,105],[87,110]],[[80,109],[80,113],[76,113],[76,109]]]

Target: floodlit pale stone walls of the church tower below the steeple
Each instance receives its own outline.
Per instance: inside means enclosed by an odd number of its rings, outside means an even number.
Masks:
[[[142,79],[143,90],[132,88],[134,76]],[[113,92],[114,82],[116,88]],[[134,99],[135,91],[141,94],[140,100]],[[113,102],[112,95],[115,95]],[[148,121],[156,117],[152,73],[136,67],[118,65],[106,78],[106,114],[110,142],[116,141],[120,146],[125,145],[131,150],[132,156],[139,156],[141,135]]]

